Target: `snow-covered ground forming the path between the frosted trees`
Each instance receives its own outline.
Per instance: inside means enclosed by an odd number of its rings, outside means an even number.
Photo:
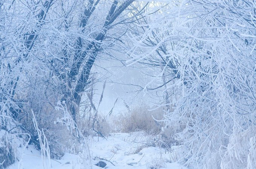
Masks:
[[[82,164],[81,154],[65,153],[61,160],[51,160],[52,169],[98,169],[100,167],[94,164],[99,161],[105,162],[105,168],[108,169],[186,169],[178,163],[172,163],[174,151],[150,146],[152,143],[148,141],[149,137],[142,132],[112,133],[107,140],[93,137],[89,141],[91,160],[86,164]],[[7,169],[43,169],[43,164],[45,168],[46,163],[49,164],[48,159],[43,159],[33,146],[27,146],[20,156],[22,158]]]

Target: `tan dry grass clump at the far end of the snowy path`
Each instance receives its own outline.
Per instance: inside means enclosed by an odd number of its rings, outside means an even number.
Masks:
[[[119,114],[114,120],[114,125],[118,132],[143,131],[150,135],[150,139],[141,146],[142,148],[157,146],[170,150],[172,146],[182,143],[176,138],[173,126],[166,126],[164,121],[159,121],[164,119],[164,111],[165,107],[150,111],[148,106],[141,104],[126,114]]]

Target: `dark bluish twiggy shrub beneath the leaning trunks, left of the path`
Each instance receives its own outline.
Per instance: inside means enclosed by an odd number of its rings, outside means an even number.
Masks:
[[[31,97],[32,98],[32,97]],[[41,99],[41,101],[39,101]],[[69,144],[68,140],[71,135],[67,131],[66,126],[56,124],[57,118],[61,118],[62,112],[55,110],[46,99],[37,97],[36,99],[28,99],[23,107],[23,111],[18,114],[18,123],[23,132],[28,133],[31,137],[29,144],[33,144],[38,150],[41,150],[38,140],[38,132],[33,124],[34,112],[35,120],[38,123],[38,129],[43,130],[48,141],[50,149],[50,157],[60,159],[64,155],[65,147]]]

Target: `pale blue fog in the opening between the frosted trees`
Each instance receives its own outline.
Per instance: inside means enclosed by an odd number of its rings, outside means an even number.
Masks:
[[[95,85],[94,102],[96,105],[98,105],[103,84],[106,81],[102,103],[98,109],[104,115],[110,112],[116,99],[118,100],[113,109],[114,114],[127,112],[126,105],[133,108],[142,103],[158,103],[159,97],[143,88],[151,82],[151,75],[158,76],[160,72],[147,68],[138,69],[134,65],[125,66],[124,64],[117,60],[103,60],[97,62],[97,66],[94,67],[94,71],[101,78],[101,81]],[[151,83],[158,83],[156,80],[157,78],[154,78]],[[161,82],[161,78],[159,81]]]

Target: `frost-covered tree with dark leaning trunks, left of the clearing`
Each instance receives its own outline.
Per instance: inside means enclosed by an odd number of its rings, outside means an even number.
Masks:
[[[1,103],[13,98],[21,76],[38,66],[36,72],[48,73],[46,83],[59,88],[75,120],[96,58],[109,59],[119,50],[115,45],[126,33],[119,25],[136,15],[129,14],[132,2],[2,1],[1,68],[10,80],[3,77]]]

